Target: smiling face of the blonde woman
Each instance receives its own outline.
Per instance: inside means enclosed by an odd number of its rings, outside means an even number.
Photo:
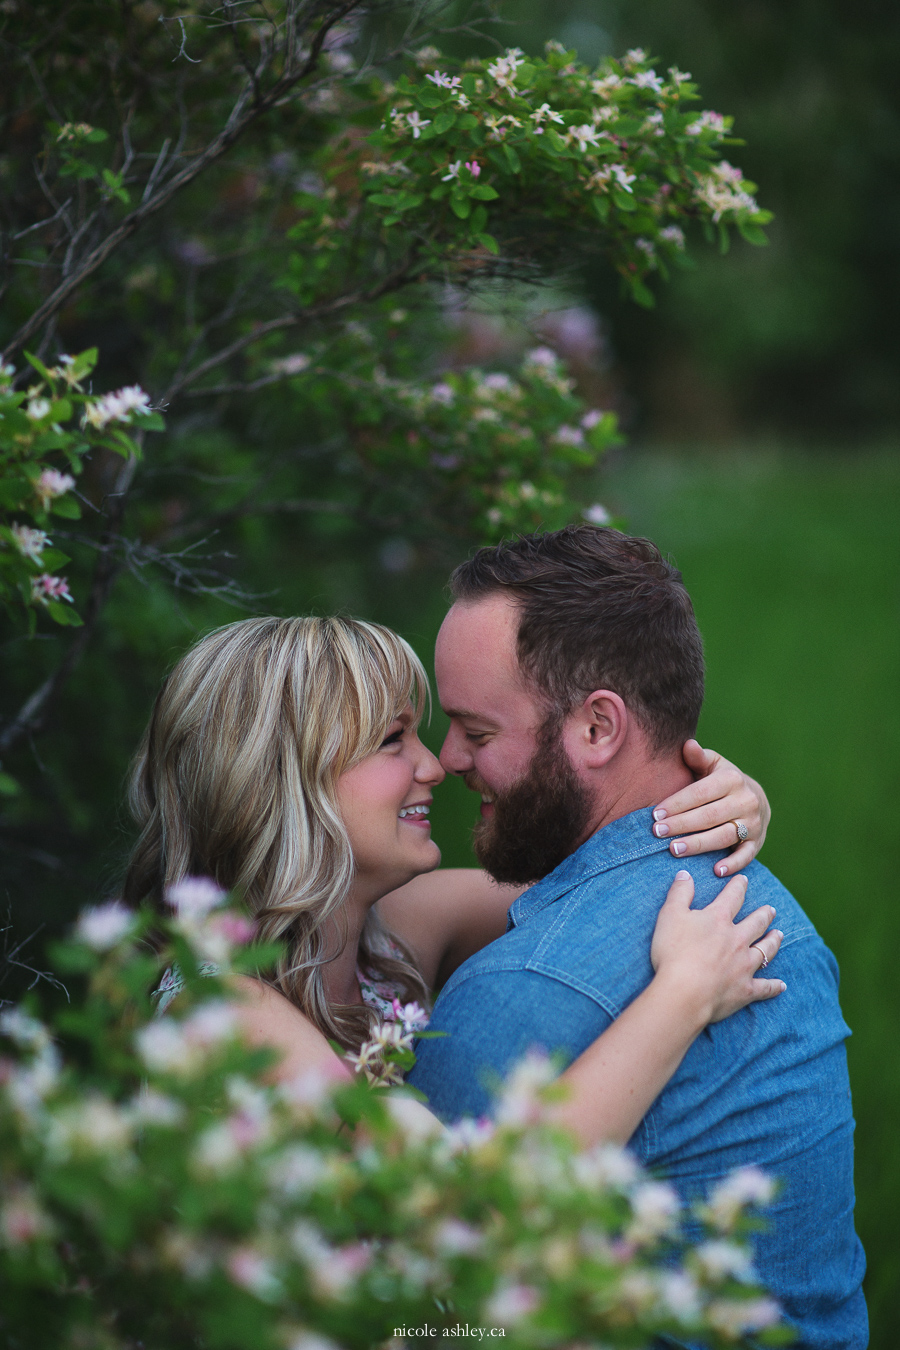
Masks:
[[[391,722],[381,747],[337,779],[337,805],[356,864],[354,891],[371,902],[441,860],[428,811],[444,770],[413,726],[413,709]]]

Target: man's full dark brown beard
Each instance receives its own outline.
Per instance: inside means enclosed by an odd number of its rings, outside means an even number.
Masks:
[[[475,826],[475,856],[495,882],[538,882],[575,852],[590,814],[591,796],[553,720],[541,729],[525,778],[498,792],[490,818]]]

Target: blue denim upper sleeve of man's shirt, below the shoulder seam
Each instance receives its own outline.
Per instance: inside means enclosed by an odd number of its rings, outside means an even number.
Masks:
[[[611,1022],[588,995],[537,971],[493,971],[451,980],[429,1031],[416,1044],[407,1081],[444,1120],[486,1116],[498,1087],[529,1050],[559,1058],[560,1072]]]

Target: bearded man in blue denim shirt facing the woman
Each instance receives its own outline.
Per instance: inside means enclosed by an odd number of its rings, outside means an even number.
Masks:
[[[676,860],[652,807],[691,780],[703,653],[680,574],[646,540],[588,525],[482,549],[451,580],[436,672],[447,770],[482,792],[476,852],[534,882],[507,933],[466,961],[410,1081],[445,1118],[490,1111],[532,1046],[573,1060],[649,983],[650,934],[676,868],[698,905],[708,859]],[[735,825],[735,834],[738,834]],[[783,1181],[756,1242],[762,1280],[815,1350],[868,1345],[853,1227],[853,1116],[834,957],[758,863],[745,907],[784,932],[787,992],[707,1027],[630,1146],[685,1199],[742,1165]]]

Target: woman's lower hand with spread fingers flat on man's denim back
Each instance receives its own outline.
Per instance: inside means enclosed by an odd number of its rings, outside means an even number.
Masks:
[[[781,980],[756,977],[764,957],[770,961],[777,953],[783,934],[766,932],[775,918],[770,905],[734,922],[746,890],[746,878],[735,876],[711,905],[692,910],[694,879],[679,872],[656,921],[650,946],[656,977],[680,991],[703,1026],[785,990]]]

